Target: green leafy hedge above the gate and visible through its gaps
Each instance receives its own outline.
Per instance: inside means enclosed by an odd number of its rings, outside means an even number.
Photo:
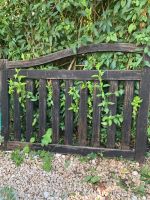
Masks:
[[[1,0],[0,1],[0,58],[9,60],[31,59],[58,50],[90,43],[127,42],[150,45],[150,1],[149,0]],[[147,51],[147,48],[145,49]],[[102,68],[103,66],[103,68]],[[142,55],[122,53],[99,53],[84,58],[76,57],[61,63],[47,65],[48,68],[69,69],[137,69],[142,67]],[[14,83],[11,87],[13,88]],[[16,86],[15,86],[16,87]],[[91,129],[92,92],[89,82],[88,125]],[[12,89],[10,88],[10,89]],[[35,82],[38,100],[38,82]],[[65,94],[61,84],[61,129],[64,129]],[[138,84],[135,87],[138,95]],[[21,89],[22,90],[22,89]],[[51,83],[47,86],[49,109],[52,106]],[[23,90],[22,90],[23,91]],[[124,86],[119,86],[121,95]],[[77,123],[79,104],[79,83],[71,88],[72,105]],[[90,96],[91,95],[91,96]],[[22,97],[21,102],[26,96]],[[37,99],[36,99],[37,98]],[[122,115],[123,97],[119,100],[119,119]],[[38,103],[35,102],[38,107]],[[24,109],[24,108],[23,108]],[[25,112],[25,110],[24,110]],[[105,116],[106,113],[104,113]],[[50,118],[50,113],[48,114]],[[108,116],[109,117],[109,116]],[[115,116],[117,118],[117,116]],[[134,116],[135,117],[135,116]],[[115,118],[115,119],[116,119]],[[22,115],[22,121],[24,115]],[[33,126],[38,121],[38,110],[34,113]],[[121,120],[122,121],[122,120]],[[120,122],[119,122],[120,123]],[[133,122],[134,124],[134,122]],[[48,124],[50,126],[50,124]],[[104,128],[104,127],[103,127]],[[133,127],[134,129],[135,127]],[[36,130],[36,128],[35,128]],[[148,128],[150,135],[150,127]],[[135,132],[135,130],[133,130]],[[120,139],[120,128],[117,137]],[[106,129],[104,131],[106,142]],[[149,137],[150,138],[150,137]]]

